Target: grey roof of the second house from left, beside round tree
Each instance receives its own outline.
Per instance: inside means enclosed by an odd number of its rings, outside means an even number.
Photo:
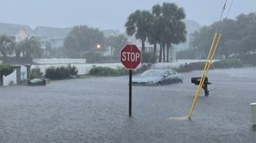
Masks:
[[[65,39],[72,28],[56,28],[38,26],[35,28],[35,34],[48,37],[49,39]]]

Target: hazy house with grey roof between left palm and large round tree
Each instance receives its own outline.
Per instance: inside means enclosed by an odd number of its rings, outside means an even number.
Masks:
[[[37,26],[34,30],[36,35],[39,35],[42,42],[48,41],[54,48],[63,47],[64,40],[72,28],[56,28]],[[43,43],[43,45],[45,45]]]

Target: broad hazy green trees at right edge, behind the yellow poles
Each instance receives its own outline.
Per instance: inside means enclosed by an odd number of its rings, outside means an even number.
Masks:
[[[240,14],[236,19],[223,19],[222,39],[219,43],[219,55],[244,54],[256,52],[256,13]],[[218,22],[204,26],[194,33],[192,45],[207,57]],[[221,30],[219,28],[219,30]],[[218,31],[219,32],[219,31]]]

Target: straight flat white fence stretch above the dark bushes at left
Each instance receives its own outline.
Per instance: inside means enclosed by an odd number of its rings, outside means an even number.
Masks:
[[[37,64],[85,64],[86,58],[40,58],[34,59]]]

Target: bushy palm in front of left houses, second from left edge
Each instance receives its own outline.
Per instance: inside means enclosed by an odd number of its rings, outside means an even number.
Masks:
[[[34,37],[26,38],[18,45],[20,51],[23,53],[23,56],[26,58],[41,57],[41,44]]]

